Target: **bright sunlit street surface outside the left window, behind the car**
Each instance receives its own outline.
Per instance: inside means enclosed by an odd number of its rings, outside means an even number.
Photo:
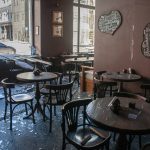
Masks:
[[[14,47],[16,49],[16,54],[19,55],[31,55],[31,44],[21,41],[10,41],[10,40],[0,40],[0,43],[3,43],[7,46]]]

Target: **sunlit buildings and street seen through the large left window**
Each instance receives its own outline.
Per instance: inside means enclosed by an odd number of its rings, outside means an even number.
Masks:
[[[0,0],[0,53],[3,44],[31,55],[32,0]]]

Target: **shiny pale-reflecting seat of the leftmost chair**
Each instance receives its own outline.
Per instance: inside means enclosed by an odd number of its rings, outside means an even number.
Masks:
[[[31,96],[29,94],[17,94],[17,95],[13,95],[12,99],[15,103],[28,102],[33,99],[33,96]]]

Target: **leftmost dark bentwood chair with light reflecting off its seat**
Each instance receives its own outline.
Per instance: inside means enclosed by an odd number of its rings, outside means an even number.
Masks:
[[[21,104],[25,104],[25,106],[29,106],[32,111],[33,123],[34,120],[34,113],[33,113],[33,99],[34,97],[29,94],[13,94],[12,89],[15,88],[15,83],[9,82],[8,78],[5,78],[1,81],[1,85],[4,89],[4,96],[5,96],[5,113],[4,113],[4,120],[6,120],[7,115],[7,107],[10,106],[10,130],[12,130],[12,118],[14,109]],[[27,114],[27,107],[26,114]]]

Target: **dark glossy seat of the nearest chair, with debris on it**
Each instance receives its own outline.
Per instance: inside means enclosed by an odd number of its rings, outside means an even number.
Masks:
[[[93,132],[92,129],[94,129],[96,133]],[[81,146],[82,149],[97,146],[103,143],[106,138],[109,138],[109,133],[92,126],[85,126],[85,128],[79,126],[76,130],[67,133],[67,139],[76,146]],[[87,141],[85,139],[87,139]]]

